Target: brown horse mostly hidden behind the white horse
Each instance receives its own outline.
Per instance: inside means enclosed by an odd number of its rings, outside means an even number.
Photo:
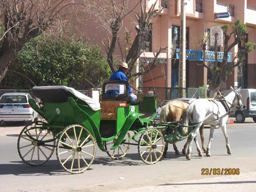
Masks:
[[[182,118],[183,111],[189,106],[189,102],[184,102],[181,100],[171,100],[169,103],[162,107],[162,111],[160,113],[160,122],[171,122],[171,121],[179,121]],[[167,129],[167,135],[170,134],[173,130]],[[203,137],[203,125],[200,127],[200,136],[202,141],[203,151],[206,152],[206,148],[204,147],[204,137]],[[194,138],[197,145],[197,137]],[[188,142],[187,142],[188,143]],[[185,150],[187,148],[187,143],[184,145],[182,153],[185,154]],[[172,144],[174,146],[175,154],[178,155],[180,152],[176,146],[176,143]],[[168,150],[168,143],[165,143],[163,156],[166,157]],[[197,145],[197,151],[199,150],[199,146]],[[199,156],[202,156],[199,153]]]

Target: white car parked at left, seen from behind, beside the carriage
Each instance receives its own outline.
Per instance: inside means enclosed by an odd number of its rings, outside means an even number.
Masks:
[[[33,121],[38,113],[30,107],[29,93],[4,93],[0,98],[0,123],[2,121]]]

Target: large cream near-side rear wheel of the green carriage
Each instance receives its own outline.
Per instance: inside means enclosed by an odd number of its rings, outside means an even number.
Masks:
[[[92,164],[95,151],[95,140],[91,132],[81,125],[70,125],[60,135],[56,155],[66,171],[80,174]]]

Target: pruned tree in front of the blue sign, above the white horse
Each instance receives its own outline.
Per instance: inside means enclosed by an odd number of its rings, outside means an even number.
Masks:
[[[224,35],[224,51],[223,51],[223,60],[219,64],[217,60],[217,34],[215,34],[215,43],[214,43],[214,52],[215,52],[215,61],[214,62],[205,62],[205,57],[203,57],[203,63],[199,65],[203,65],[208,69],[210,76],[209,86],[210,86],[210,97],[215,97],[217,91],[225,84],[227,81],[227,76],[233,73],[233,70],[236,66],[242,65],[245,54],[247,52],[251,52],[256,48],[255,43],[245,42],[247,28],[245,24],[242,24],[240,20],[237,20],[232,25],[232,29],[229,29],[229,25],[222,25],[223,35]],[[234,37],[234,40],[230,42],[231,37]],[[206,49],[209,43],[209,34],[203,34],[201,36],[200,46],[203,50],[203,55],[206,53]],[[240,44],[240,48],[237,53],[234,54],[233,60],[228,62],[228,52],[236,46],[236,44]]]

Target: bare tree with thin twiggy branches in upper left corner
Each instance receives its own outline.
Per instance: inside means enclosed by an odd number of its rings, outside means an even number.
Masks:
[[[57,21],[63,22],[77,5],[84,3],[82,0],[0,0],[0,82],[23,45],[57,26]]]

